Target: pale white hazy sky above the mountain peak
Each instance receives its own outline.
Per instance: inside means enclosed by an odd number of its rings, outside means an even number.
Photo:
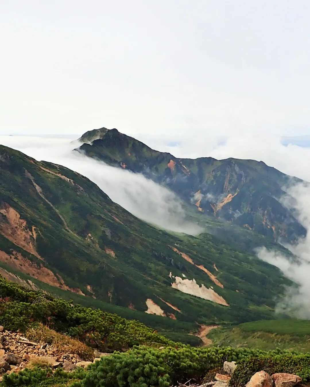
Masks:
[[[309,0],[0,2],[0,134],[310,133]]]

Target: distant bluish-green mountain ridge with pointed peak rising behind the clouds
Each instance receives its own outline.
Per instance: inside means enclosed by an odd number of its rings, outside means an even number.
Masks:
[[[281,203],[289,183],[298,178],[262,161],[211,157],[176,158],[158,152],[117,129],[86,132],[78,150],[87,156],[165,185],[203,214],[254,230],[274,241],[294,243],[306,230]]]

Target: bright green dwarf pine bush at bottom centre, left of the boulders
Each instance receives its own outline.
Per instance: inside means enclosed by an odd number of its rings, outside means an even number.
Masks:
[[[250,356],[249,350],[232,348],[134,347],[114,353],[90,366],[80,387],[168,387],[191,379],[200,382],[205,374],[225,360]]]

